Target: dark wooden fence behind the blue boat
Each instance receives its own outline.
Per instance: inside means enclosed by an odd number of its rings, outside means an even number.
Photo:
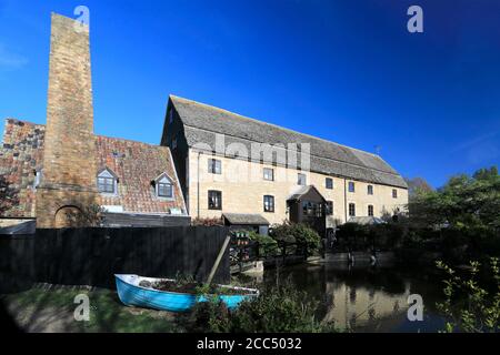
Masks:
[[[207,278],[229,233],[222,226],[37,230],[0,236],[0,292],[33,282],[113,287],[113,274]],[[230,278],[229,251],[214,281]]]

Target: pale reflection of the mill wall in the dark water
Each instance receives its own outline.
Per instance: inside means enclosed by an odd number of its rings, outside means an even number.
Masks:
[[[327,282],[326,292],[326,298],[330,302],[324,321],[334,322],[340,327],[354,327],[403,315],[408,308],[410,284],[404,283],[404,292],[401,294],[388,294],[374,287]]]

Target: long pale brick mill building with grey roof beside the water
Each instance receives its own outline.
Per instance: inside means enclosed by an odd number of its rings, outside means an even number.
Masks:
[[[329,227],[392,216],[408,204],[404,180],[377,154],[173,95],[161,144],[172,151],[191,217],[241,213],[270,224],[301,222],[291,214],[299,203],[304,215],[324,214]],[[307,186],[323,202],[293,197]]]

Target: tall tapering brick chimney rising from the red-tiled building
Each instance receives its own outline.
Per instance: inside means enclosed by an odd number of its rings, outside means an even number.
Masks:
[[[38,227],[66,226],[67,212],[97,202],[94,139],[89,28],[52,13]]]

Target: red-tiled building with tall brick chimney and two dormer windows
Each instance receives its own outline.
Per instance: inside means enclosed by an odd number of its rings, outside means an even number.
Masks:
[[[89,28],[56,13],[51,21],[47,124],[6,121],[0,226],[62,227],[91,205],[109,225],[189,223],[167,146],[93,133]]]

